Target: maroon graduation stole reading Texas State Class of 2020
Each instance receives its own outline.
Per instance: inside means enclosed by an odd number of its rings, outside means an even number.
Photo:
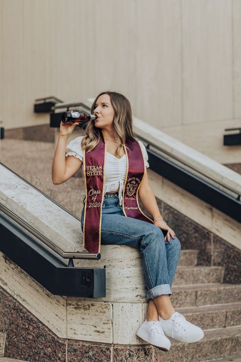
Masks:
[[[153,220],[141,211],[137,198],[141,181],[146,172],[141,147],[139,143],[134,140],[126,142],[124,149],[127,156],[127,172],[122,200],[124,215],[153,224]],[[83,174],[86,195],[83,221],[83,246],[89,253],[100,253],[106,145],[100,140],[95,149],[91,152],[85,152],[84,150],[83,153]],[[166,235],[167,230],[161,230],[163,234]]]

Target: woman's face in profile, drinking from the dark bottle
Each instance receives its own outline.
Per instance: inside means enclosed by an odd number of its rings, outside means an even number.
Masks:
[[[110,96],[102,94],[94,105],[94,115],[98,115],[95,120],[95,126],[98,128],[108,128],[114,119],[114,108],[112,107]]]

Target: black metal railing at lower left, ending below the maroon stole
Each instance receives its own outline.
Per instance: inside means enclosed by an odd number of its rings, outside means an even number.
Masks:
[[[0,251],[39,284],[55,295],[87,298],[106,296],[106,269],[74,267],[58,257],[57,250],[48,250],[38,236],[25,225],[18,224],[5,212],[0,212]],[[68,256],[69,257],[69,256]]]

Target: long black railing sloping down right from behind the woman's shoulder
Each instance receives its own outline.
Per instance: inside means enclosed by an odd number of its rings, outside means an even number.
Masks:
[[[165,149],[148,142],[136,134],[145,144],[150,169],[175,185],[190,192],[200,200],[241,222],[241,201],[238,190],[197,171]]]

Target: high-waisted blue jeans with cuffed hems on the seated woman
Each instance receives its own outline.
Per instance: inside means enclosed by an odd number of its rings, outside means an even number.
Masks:
[[[83,217],[84,208],[81,217],[82,231]],[[170,236],[168,242],[164,240],[161,229],[156,225],[124,216],[123,208],[119,206],[118,193],[104,195],[101,244],[128,245],[140,250],[147,286],[147,301],[159,295],[172,294],[171,285],[181,249],[179,240]]]

